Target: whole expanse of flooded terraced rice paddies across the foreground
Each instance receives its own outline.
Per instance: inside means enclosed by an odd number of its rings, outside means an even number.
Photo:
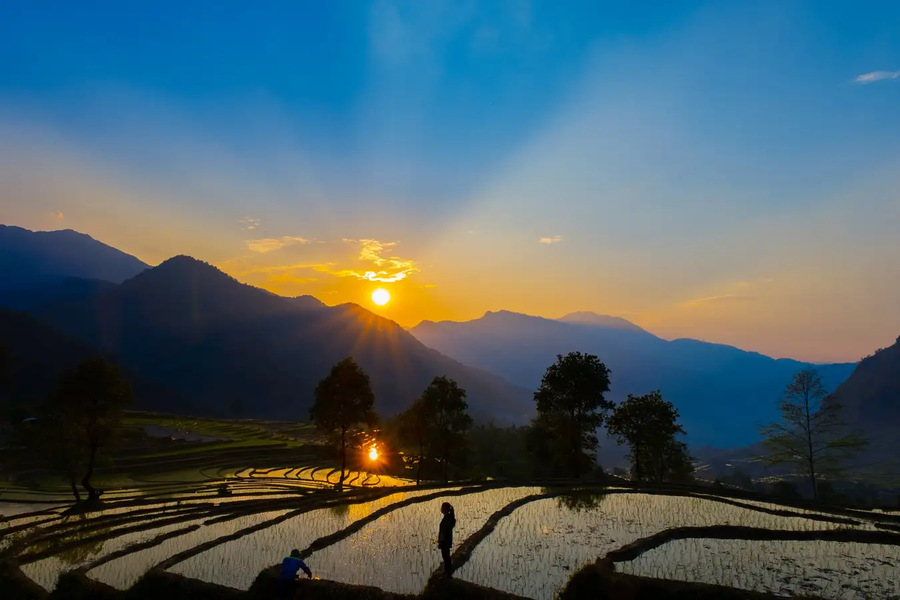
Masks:
[[[105,496],[108,508],[84,516],[50,504],[31,505],[39,512],[0,505],[0,558],[15,557],[48,590],[73,569],[126,589],[154,567],[248,589],[296,547],[322,579],[416,594],[439,567],[446,500],[456,508],[457,548],[465,547],[454,555],[456,576],[535,600],[553,598],[598,558],[625,574],[783,596],[900,594],[900,535],[879,528],[893,517],[877,513],[848,518],[628,489],[376,487],[394,482],[367,474],[353,479],[362,486],[338,493],[331,470],[245,471],[227,481],[122,489]]]

